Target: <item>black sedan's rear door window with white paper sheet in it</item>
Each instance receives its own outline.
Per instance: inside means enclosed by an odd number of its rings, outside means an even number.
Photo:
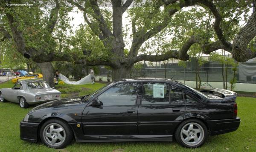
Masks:
[[[169,104],[169,85],[166,83],[143,83],[142,104]]]

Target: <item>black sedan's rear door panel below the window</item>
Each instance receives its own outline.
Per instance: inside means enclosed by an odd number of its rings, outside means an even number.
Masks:
[[[138,130],[140,135],[172,135],[183,120],[184,105],[140,105]]]

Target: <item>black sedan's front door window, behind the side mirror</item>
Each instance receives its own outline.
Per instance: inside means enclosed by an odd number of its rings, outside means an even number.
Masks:
[[[106,90],[98,96],[103,106],[134,105],[137,99],[140,83],[121,83]]]

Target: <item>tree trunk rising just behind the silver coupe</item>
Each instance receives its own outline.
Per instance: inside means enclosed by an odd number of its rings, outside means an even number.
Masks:
[[[43,73],[43,79],[50,87],[54,87],[54,68],[51,62],[37,63]]]

